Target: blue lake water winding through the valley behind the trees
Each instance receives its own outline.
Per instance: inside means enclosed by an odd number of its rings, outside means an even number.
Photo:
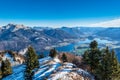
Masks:
[[[116,42],[116,41],[103,40],[103,39],[99,39],[99,38],[95,38],[94,40],[96,40],[98,42],[98,45],[102,45],[102,46],[104,45],[104,47],[106,46],[105,44],[113,44],[113,43]],[[89,45],[91,41],[93,41],[93,40],[85,39],[85,40],[78,41],[76,43],[70,43],[70,44],[65,45],[65,46],[55,47],[55,49],[58,52],[73,52],[75,50],[75,46],[79,46],[79,45],[82,45],[82,44],[88,44]],[[116,51],[116,55],[118,57],[118,60],[120,61],[120,55],[119,55],[120,49],[116,48],[115,51]],[[48,55],[49,50],[46,50],[44,52],[44,54]]]

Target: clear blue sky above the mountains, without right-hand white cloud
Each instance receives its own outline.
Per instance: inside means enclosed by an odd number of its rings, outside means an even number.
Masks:
[[[120,0],[0,0],[0,25],[79,26],[120,17]]]

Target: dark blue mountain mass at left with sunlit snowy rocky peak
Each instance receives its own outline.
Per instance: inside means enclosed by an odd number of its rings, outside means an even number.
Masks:
[[[19,51],[32,45],[36,51],[41,51],[45,46],[73,38],[77,37],[61,29],[45,28],[41,31],[24,25],[8,24],[0,28],[0,50]]]

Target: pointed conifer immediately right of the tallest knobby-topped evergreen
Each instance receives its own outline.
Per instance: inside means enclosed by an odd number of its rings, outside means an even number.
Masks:
[[[100,61],[100,65],[96,71],[99,70],[99,73],[96,72],[96,74],[99,74],[97,77],[99,80],[110,80],[111,76],[111,55],[108,47],[105,49],[102,59]]]

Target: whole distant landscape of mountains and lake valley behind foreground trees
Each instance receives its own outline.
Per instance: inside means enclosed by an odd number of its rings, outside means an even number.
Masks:
[[[100,48],[105,46],[114,48],[119,58],[119,31],[120,28],[109,27],[44,28],[8,24],[0,28],[0,50],[24,52],[32,45],[38,54],[44,53],[45,56],[51,48],[56,48],[59,52],[82,54],[86,50],[82,47],[88,47],[92,40],[97,40]],[[83,50],[77,49],[77,46]]]

